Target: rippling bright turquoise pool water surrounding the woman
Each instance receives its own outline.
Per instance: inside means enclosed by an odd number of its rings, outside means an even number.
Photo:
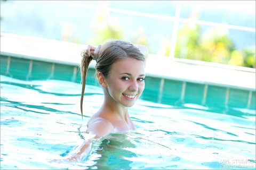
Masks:
[[[146,81],[147,83],[147,81]],[[147,86],[147,85],[146,85]],[[130,109],[136,131],[96,140],[82,163],[49,163],[84,138],[103,99],[81,84],[23,81],[1,75],[1,169],[255,169],[255,110],[175,106],[139,100]],[[214,112],[212,112],[214,110]]]

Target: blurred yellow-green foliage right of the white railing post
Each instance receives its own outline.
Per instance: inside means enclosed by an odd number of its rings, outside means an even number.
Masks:
[[[209,28],[202,35],[198,24],[186,23],[178,32],[175,57],[255,68],[254,49],[237,50],[225,28]]]

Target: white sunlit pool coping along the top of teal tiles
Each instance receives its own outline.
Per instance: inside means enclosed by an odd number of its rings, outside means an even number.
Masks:
[[[1,55],[77,66],[87,45],[1,33]],[[185,62],[184,62],[185,61]],[[90,67],[94,67],[93,61]],[[149,54],[146,75],[255,91],[255,69]]]

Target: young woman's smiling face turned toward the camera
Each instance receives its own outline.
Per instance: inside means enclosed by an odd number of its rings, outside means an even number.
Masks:
[[[123,58],[111,65],[105,79],[107,96],[118,105],[131,107],[145,88],[145,65],[135,58]]]

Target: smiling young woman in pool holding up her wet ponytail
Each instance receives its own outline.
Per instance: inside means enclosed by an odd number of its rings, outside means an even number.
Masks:
[[[87,122],[86,140],[62,160],[82,160],[91,150],[92,139],[105,137],[109,133],[135,130],[128,108],[134,105],[145,88],[147,56],[145,46],[135,46],[122,40],[108,41],[97,48],[89,45],[82,52],[82,116],[86,74],[92,60],[97,63],[95,70],[103,88],[104,100],[99,111]]]

